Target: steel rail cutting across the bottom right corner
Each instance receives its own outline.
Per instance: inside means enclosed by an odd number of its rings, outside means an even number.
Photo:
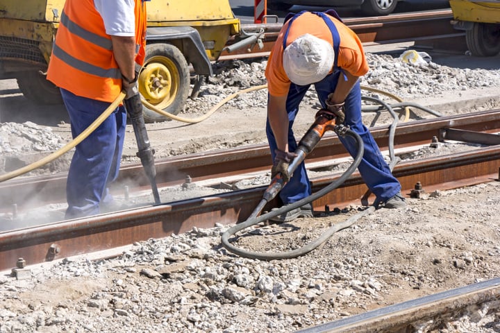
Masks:
[[[456,321],[464,314],[500,308],[500,278],[469,284],[433,295],[408,300],[364,314],[309,327],[297,333],[397,333],[437,330],[442,323]]]

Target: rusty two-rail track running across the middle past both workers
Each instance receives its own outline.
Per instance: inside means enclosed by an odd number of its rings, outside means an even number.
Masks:
[[[425,191],[451,189],[474,185],[499,178],[500,110],[442,117],[423,121],[403,123],[396,130],[395,150],[422,144],[431,144],[433,137],[464,142],[488,144],[471,151],[430,157],[424,160],[400,162],[394,168],[394,175],[401,182],[406,196],[417,184]],[[388,143],[386,127],[374,128],[372,133],[384,150]],[[495,144],[489,146],[490,144]],[[329,135],[322,139],[306,163],[322,162],[328,156],[345,155],[338,138]],[[245,156],[242,160],[241,156]],[[193,182],[208,178],[234,176],[239,173],[265,171],[269,169],[267,147],[257,145],[245,148],[218,151],[213,154],[188,155],[160,160],[157,164],[160,187],[183,182],[190,176]],[[245,165],[246,169],[241,169]],[[178,169],[177,178],[172,178],[172,167]],[[217,171],[217,172],[214,172]],[[140,166],[124,167],[121,172],[122,184],[131,189],[144,190],[148,181],[142,178]],[[333,182],[338,174],[313,179],[313,191]],[[63,175],[14,180],[1,184],[1,202],[9,200],[18,207],[23,202],[32,202],[35,194],[41,198],[55,200],[63,198]],[[129,182],[129,183],[128,183]],[[132,184],[139,186],[133,188]],[[262,198],[263,187],[253,187],[237,191],[178,200],[162,205],[144,205],[119,212],[90,216],[83,219],[58,221],[0,233],[0,271],[15,266],[17,259],[40,263],[53,259],[70,257],[95,250],[105,250],[132,244],[151,237],[166,237],[172,233],[186,232],[193,226],[211,228],[215,223],[230,224],[244,219]],[[315,210],[333,210],[349,203],[369,204],[370,198],[358,173],[330,194],[313,202]],[[152,201],[151,201],[152,202]],[[269,207],[276,205],[270,203]],[[268,208],[269,208],[268,207]]]

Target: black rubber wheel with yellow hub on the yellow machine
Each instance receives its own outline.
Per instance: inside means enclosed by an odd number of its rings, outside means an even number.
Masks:
[[[189,67],[183,53],[170,44],[148,44],[138,85],[142,98],[156,108],[170,114],[181,112],[190,89]],[[146,107],[142,114],[146,123],[170,120]]]

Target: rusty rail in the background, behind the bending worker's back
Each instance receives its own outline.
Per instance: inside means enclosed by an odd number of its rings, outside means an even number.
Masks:
[[[393,44],[400,42],[418,42],[422,46],[440,49],[466,49],[465,33],[457,31],[451,25],[453,19],[451,9],[435,10],[433,12],[405,13],[388,15],[386,17],[363,17],[344,19],[361,42],[369,44]],[[235,58],[255,58],[269,56],[269,52],[278,37],[283,24],[244,24],[242,30],[246,33],[263,31],[262,48],[256,44],[245,49],[232,52],[223,51],[218,60]],[[231,46],[242,40],[242,37],[231,37],[226,46]]]

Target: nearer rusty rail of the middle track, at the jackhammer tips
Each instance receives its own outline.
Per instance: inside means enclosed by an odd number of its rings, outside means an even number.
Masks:
[[[500,146],[477,148],[466,153],[401,162],[394,168],[408,196],[419,182],[424,190],[452,189],[498,179]],[[313,191],[330,184],[340,175],[312,179]],[[263,196],[266,186],[231,191],[213,196],[140,207],[83,219],[49,223],[33,228],[0,233],[0,271],[15,266],[23,257],[27,264],[38,264],[117,248],[135,241],[167,237],[193,227],[212,228],[215,223],[244,221]],[[345,207],[347,203],[368,203],[367,187],[354,173],[341,187],[313,202],[315,210]],[[269,203],[274,207],[276,202]]]

